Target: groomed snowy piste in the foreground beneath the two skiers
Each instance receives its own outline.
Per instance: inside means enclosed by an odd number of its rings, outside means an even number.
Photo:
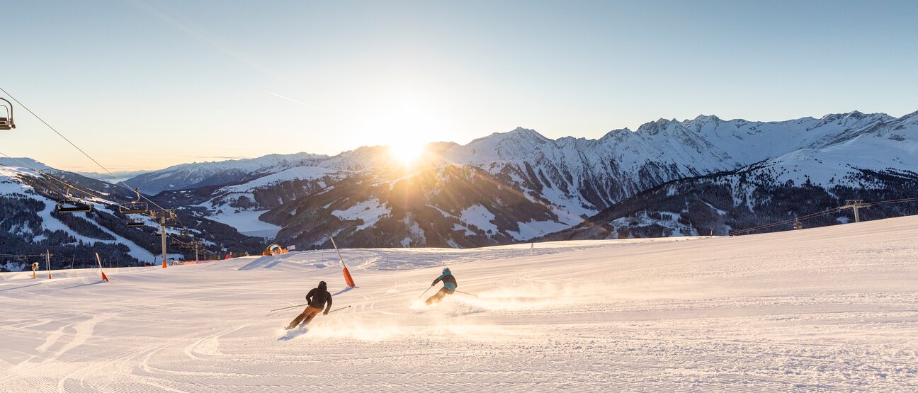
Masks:
[[[915,391],[918,218],[0,275],[0,391]],[[462,294],[415,299],[448,264]],[[334,307],[281,330],[319,280]],[[428,292],[426,296],[430,296]],[[425,296],[425,297],[426,297]]]

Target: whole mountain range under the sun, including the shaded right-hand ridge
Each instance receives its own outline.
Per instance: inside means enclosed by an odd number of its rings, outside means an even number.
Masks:
[[[464,145],[431,143],[410,168],[375,146],[186,163],[128,183],[159,192],[155,200],[189,218],[265,238],[253,244],[321,248],[333,235],[347,247],[473,247],[726,233],[847,197],[909,197],[918,194],[916,151],[918,112],[777,122],[699,116],[596,140],[518,128]]]

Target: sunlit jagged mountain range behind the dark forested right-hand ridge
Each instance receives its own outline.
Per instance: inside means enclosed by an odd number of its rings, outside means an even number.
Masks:
[[[310,155],[301,166],[260,166],[244,182],[161,197],[298,247],[325,246],[330,233],[354,246],[499,244],[572,228],[657,185],[753,164],[769,168],[774,182],[809,179],[823,187],[853,185],[850,176],[861,170],[918,170],[916,119],[856,111],[778,122],[699,116],[597,140],[552,140],[518,128],[465,145],[431,144],[410,171],[385,147],[365,147]],[[235,171],[235,163],[200,164],[200,171],[218,174],[220,164]],[[183,175],[204,177],[191,175],[196,165],[184,165]],[[146,176],[178,183],[170,173]]]

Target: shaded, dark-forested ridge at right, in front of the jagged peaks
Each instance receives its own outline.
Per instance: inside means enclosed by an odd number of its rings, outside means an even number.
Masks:
[[[804,227],[834,225],[855,219],[839,210],[849,199],[878,203],[861,219],[918,214],[918,203],[881,203],[918,194],[916,120],[884,119],[739,170],[677,179],[543,240],[726,234],[779,221],[761,230],[789,230],[797,217]]]

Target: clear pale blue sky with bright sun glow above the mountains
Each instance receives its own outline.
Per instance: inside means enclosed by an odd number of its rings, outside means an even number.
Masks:
[[[918,110],[918,2],[26,1],[0,86],[116,170]],[[17,112],[0,152],[93,171]]]

